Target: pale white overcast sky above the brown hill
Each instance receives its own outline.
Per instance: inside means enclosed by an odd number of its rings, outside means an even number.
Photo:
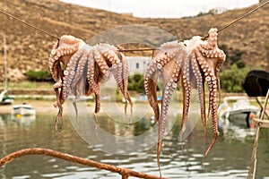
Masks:
[[[257,4],[258,0],[61,0],[114,13],[133,13],[135,17],[180,18],[206,13],[213,8],[227,10]]]

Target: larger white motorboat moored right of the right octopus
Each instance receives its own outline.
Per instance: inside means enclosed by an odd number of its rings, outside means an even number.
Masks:
[[[239,124],[250,126],[250,118],[258,117],[259,108],[249,104],[247,97],[226,97],[219,109],[219,125]]]

